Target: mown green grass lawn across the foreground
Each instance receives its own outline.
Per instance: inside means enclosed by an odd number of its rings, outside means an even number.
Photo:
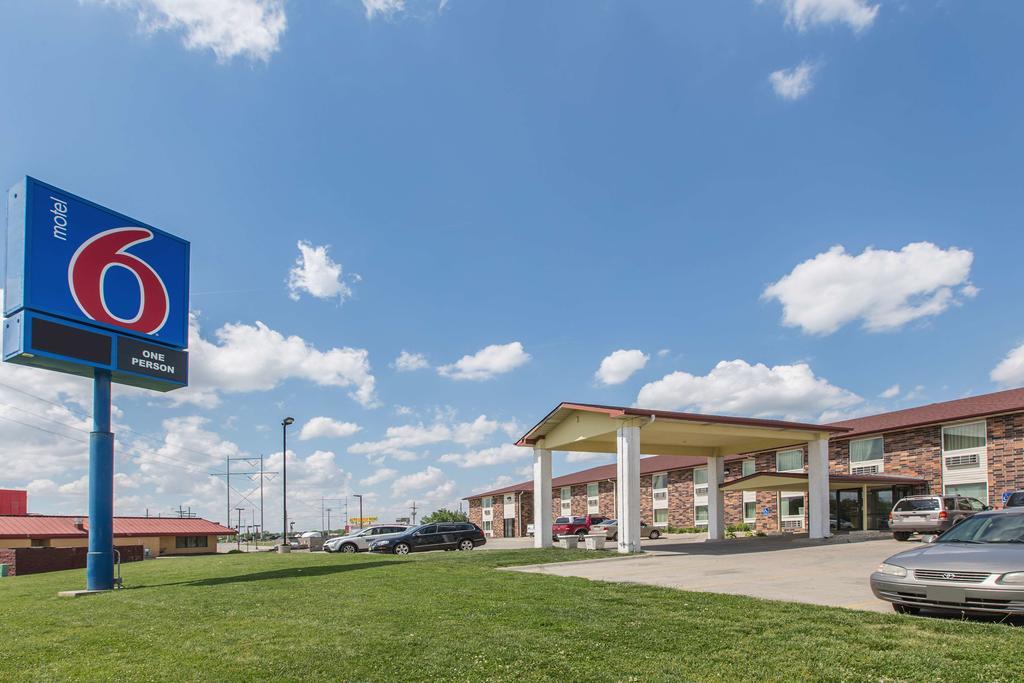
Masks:
[[[1024,630],[497,571],[583,551],[232,554],[0,580],[0,681],[1024,679]]]

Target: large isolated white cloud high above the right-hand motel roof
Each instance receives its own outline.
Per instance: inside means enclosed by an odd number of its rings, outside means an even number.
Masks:
[[[976,295],[968,280],[973,260],[968,250],[929,242],[899,251],[868,247],[859,256],[837,245],[769,285],[762,298],[779,301],[783,324],[809,334],[828,335],[857,318],[869,332],[895,330]]]

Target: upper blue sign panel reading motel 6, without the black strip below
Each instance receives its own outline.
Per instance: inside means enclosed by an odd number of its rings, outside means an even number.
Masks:
[[[187,345],[188,243],[34,178],[8,193],[4,289],[7,317],[29,310]]]

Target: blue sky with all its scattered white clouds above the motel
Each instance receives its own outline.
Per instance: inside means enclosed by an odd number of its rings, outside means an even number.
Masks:
[[[525,478],[509,444],[560,400],[828,420],[1024,385],[1018,3],[0,11],[0,178],[193,245],[194,387],[116,392],[119,514],[221,519],[208,473],[280,464],[285,415],[312,527]],[[0,486],[84,510],[89,410],[0,368]]]

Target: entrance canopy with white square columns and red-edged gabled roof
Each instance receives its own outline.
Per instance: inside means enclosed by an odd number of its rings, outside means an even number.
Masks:
[[[721,485],[727,456],[808,445],[809,536],[828,527],[828,438],[847,427],[642,408],[559,403],[516,445],[534,449],[537,547],[551,539],[551,452],[614,453],[618,551],[640,550],[640,455],[696,456],[708,460],[708,538],[725,537]]]

